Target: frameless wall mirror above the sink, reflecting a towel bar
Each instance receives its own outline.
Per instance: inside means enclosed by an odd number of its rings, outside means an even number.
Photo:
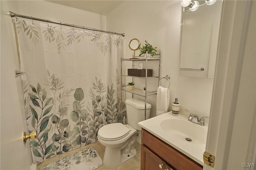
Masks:
[[[180,76],[214,78],[222,1],[182,12]]]

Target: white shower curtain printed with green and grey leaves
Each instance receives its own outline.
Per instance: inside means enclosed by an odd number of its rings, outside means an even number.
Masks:
[[[121,117],[124,38],[15,19],[34,163],[94,143]],[[125,110],[123,110],[125,112]]]

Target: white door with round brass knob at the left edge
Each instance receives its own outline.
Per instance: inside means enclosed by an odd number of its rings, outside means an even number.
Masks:
[[[26,131],[21,108],[22,95],[20,78],[15,78],[14,70],[18,70],[18,57],[15,42],[14,28],[6,9],[10,10],[14,2],[0,1],[1,7],[1,95],[0,95],[0,134],[1,134],[1,170],[29,170],[30,159],[28,156],[27,142],[22,141],[22,132]],[[26,125],[26,123],[25,123]],[[29,146],[28,146],[29,147]]]

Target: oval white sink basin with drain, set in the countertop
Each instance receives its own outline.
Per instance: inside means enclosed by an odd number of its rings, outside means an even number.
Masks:
[[[205,145],[207,138],[207,129],[184,119],[165,119],[160,123],[163,131],[178,139],[182,143],[191,143],[195,145]],[[190,141],[190,139],[192,141]]]

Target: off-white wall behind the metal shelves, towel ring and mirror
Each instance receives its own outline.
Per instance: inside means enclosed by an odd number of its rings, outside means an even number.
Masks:
[[[132,56],[128,47],[132,38],[138,38],[142,45],[144,40],[148,40],[161,49],[160,76],[169,74],[171,77],[169,111],[174,98],[178,98],[181,105],[209,113],[213,79],[179,76],[181,16],[179,0],[125,1],[107,15],[107,29],[125,33],[126,58]],[[139,53],[136,51],[136,55]],[[131,65],[126,68],[131,68]],[[142,84],[140,86],[143,87]],[[156,95],[149,97],[147,101],[152,105],[150,117],[153,117],[156,111]]]

